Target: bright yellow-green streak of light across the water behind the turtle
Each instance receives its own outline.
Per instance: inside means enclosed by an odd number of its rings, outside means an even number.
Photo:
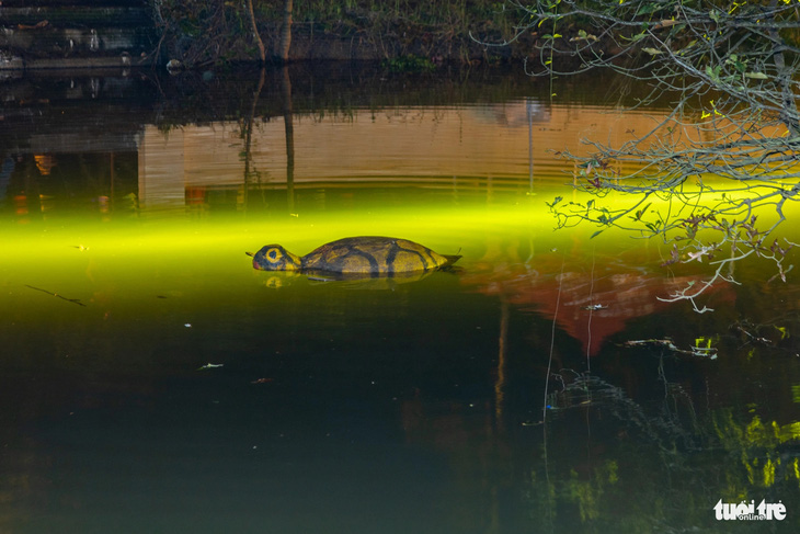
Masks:
[[[278,242],[302,255],[324,242],[359,235],[402,237],[441,253],[460,253],[461,265],[470,265],[478,259],[507,261],[494,243],[510,238],[530,241],[533,254],[549,252],[571,241],[571,254],[575,250],[579,254],[570,257],[570,261],[585,260],[581,250],[599,254],[627,250],[632,254],[628,261],[650,266],[668,255],[668,247],[660,239],[645,239],[643,224],[628,220],[632,216],[625,217],[622,223],[638,226],[641,232],[591,223],[557,229],[557,218],[547,206],[556,196],[563,196],[557,207],[564,211],[590,202],[615,211],[632,205],[630,195],[597,198],[571,191],[569,184],[540,186],[535,191],[535,194],[494,195],[490,202],[476,197],[456,201],[439,195],[437,203],[424,204],[415,204],[413,197],[398,202],[396,193],[395,205],[390,206],[375,202],[351,211],[299,208],[294,214],[277,215],[224,212],[199,219],[180,213],[139,217],[123,214],[105,221],[79,213],[27,224],[12,219],[4,225],[3,283],[21,298],[14,309],[41,300],[42,295],[21,289],[26,285],[91,300],[90,295],[98,287],[108,291],[113,287],[115,298],[135,298],[168,291],[164,284],[188,284],[202,287],[210,297],[231,281],[242,280],[250,263],[244,253],[254,252],[263,245]],[[719,200],[716,194],[707,196],[713,202]],[[655,220],[656,213],[683,209],[683,216],[688,217],[695,211],[677,201],[655,197],[647,204],[643,221]],[[697,207],[701,208],[702,204],[698,203]],[[798,216],[795,204],[788,204],[784,212],[790,220]],[[776,218],[769,206],[754,214],[759,216],[761,225],[772,224]],[[597,230],[603,231],[590,239]],[[789,225],[776,236],[779,235],[793,237]],[[213,298],[207,302],[213,306]]]

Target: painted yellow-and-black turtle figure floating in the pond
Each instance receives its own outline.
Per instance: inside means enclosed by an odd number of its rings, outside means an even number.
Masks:
[[[261,271],[372,277],[437,271],[461,258],[436,253],[408,239],[380,236],[338,239],[301,258],[279,245],[266,245],[252,257],[253,268]]]

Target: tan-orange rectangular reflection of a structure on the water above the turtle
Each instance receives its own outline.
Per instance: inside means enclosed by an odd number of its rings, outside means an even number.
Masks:
[[[643,114],[553,106],[533,101],[449,107],[357,110],[347,115],[294,114],[294,166],[288,166],[286,125],[254,124],[248,166],[251,185],[297,188],[335,183],[388,183],[456,190],[525,190],[532,159],[537,179],[563,181],[563,162],[548,149],[580,151],[592,132],[626,138]],[[146,125],[139,139],[141,206],[183,206],[187,188],[243,188],[247,138],[241,125],[217,122],[170,132]]]

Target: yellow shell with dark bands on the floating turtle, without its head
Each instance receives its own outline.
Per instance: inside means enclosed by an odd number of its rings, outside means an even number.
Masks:
[[[300,260],[306,272],[392,275],[435,271],[459,258],[436,253],[408,239],[363,236],[329,242]]]

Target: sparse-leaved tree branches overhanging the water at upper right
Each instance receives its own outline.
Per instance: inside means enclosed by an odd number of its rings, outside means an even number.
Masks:
[[[586,139],[586,151],[561,152],[573,162],[573,186],[593,200],[556,198],[549,206],[560,227],[588,223],[599,228],[595,235],[616,227],[660,237],[673,245],[666,264],[708,260],[707,280],[665,298],[688,300],[698,313],[709,309],[697,298],[713,284],[735,283],[732,265],[746,258],[774,262],[786,280],[793,243],[772,235],[786,219],[786,203],[800,200],[796,2],[508,0],[505,7],[519,21],[510,42],[537,38],[538,61],[525,67],[530,76],[606,68],[650,87],[631,107],[671,101],[649,132],[619,146]],[[607,207],[608,195],[630,202]],[[651,208],[656,198],[667,207]],[[774,223],[758,228],[767,212]]]

